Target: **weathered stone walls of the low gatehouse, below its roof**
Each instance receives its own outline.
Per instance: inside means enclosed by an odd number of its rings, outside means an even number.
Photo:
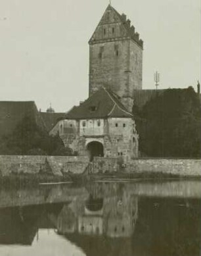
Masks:
[[[70,123],[71,120],[60,120],[58,126],[64,127]],[[138,157],[139,153],[139,136],[132,118],[79,120],[71,134],[62,132],[60,137],[66,147],[78,152],[80,156],[87,156],[87,145],[92,141],[102,144],[104,157],[120,158],[125,163]]]

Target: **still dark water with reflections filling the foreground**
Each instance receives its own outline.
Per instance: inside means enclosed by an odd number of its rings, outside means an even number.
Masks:
[[[201,182],[1,188],[1,256],[200,256]]]

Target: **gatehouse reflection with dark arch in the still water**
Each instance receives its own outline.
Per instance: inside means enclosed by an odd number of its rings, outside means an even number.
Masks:
[[[138,199],[120,184],[87,188],[89,198],[64,205],[60,213],[49,215],[58,234],[126,238],[133,234],[138,217]]]

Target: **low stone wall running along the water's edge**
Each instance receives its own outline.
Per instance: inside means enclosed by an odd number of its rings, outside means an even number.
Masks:
[[[48,171],[62,176],[64,172],[69,171],[81,174],[88,167],[88,157],[0,155],[0,176]],[[93,173],[104,173],[116,172],[120,167],[118,159],[95,157],[90,168]],[[162,173],[201,177],[201,159],[132,159],[122,170],[133,174]]]

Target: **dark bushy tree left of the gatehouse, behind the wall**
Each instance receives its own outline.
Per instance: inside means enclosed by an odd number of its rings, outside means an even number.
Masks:
[[[72,155],[64,147],[58,135],[50,136],[37,126],[35,120],[25,116],[9,136],[0,141],[0,154],[3,155]]]

